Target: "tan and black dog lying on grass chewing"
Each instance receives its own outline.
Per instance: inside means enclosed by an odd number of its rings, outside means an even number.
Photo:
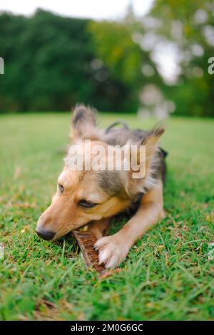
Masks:
[[[159,148],[163,127],[152,130],[130,130],[116,128],[116,123],[105,129],[98,128],[96,112],[84,105],[76,106],[71,121],[71,146],[86,149],[86,140],[93,148],[136,146],[138,170],[143,168],[143,177],[133,178],[130,170],[83,170],[71,169],[71,150],[65,158],[63,171],[58,177],[57,190],[51,205],[39,217],[36,233],[42,239],[55,240],[87,225],[98,239],[94,245],[98,250],[99,263],[106,268],[118,267],[126,259],[129,249],[137,239],[161,220],[163,210],[163,182],[165,180],[165,151]],[[146,156],[139,158],[141,146]],[[106,155],[106,154],[103,154]],[[131,155],[123,153],[122,160]],[[89,153],[88,158],[95,157]],[[116,157],[113,152],[112,159]],[[88,159],[87,158],[87,159]],[[86,158],[84,158],[86,163]],[[109,158],[108,158],[109,160]],[[108,162],[107,162],[108,163]],[[106,164],[107,164],[106,163]],[[138,172],[138,171],[137,171]],[[137,204],[137,205],[136,205]],[[133,207],[136,210],[121,230],[111,236],[103,236],[111,218]]]

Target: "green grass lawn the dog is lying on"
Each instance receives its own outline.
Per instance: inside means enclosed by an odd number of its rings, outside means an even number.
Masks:
[[[116,118],[151,124],[116,114],[101,123]],[[56,190],[69,119],[0,118],[0,320],[214,319],[214,120],[168,121],[167,217],[136,242],[121,272],[99,279],[72,240],[45,242],[34,232]]]

